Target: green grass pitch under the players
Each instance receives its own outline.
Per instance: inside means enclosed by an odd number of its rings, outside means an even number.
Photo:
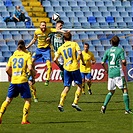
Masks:
[[[9,83],[0,83],[0,105],[6,98]],[[24,101],[15,98],[8,106],[0,133],[131,133],[133,130],[133,115],[124,114],[122,92],[116,90],[106,114],[100,109],[107,94],[107,83],[93,83],[93,95],[82,95],[79,100],[81,112],[71,107],[76,88],[71,87],[64,104],[64,112],[59,112],[57,106],[63,84],[50,82],[45,87],[43,82],[36,83],[38,103],[32,102],[29,114],[29,125],[21,125]],[[133,109],[133,83],[128,83],[130,107]]]

